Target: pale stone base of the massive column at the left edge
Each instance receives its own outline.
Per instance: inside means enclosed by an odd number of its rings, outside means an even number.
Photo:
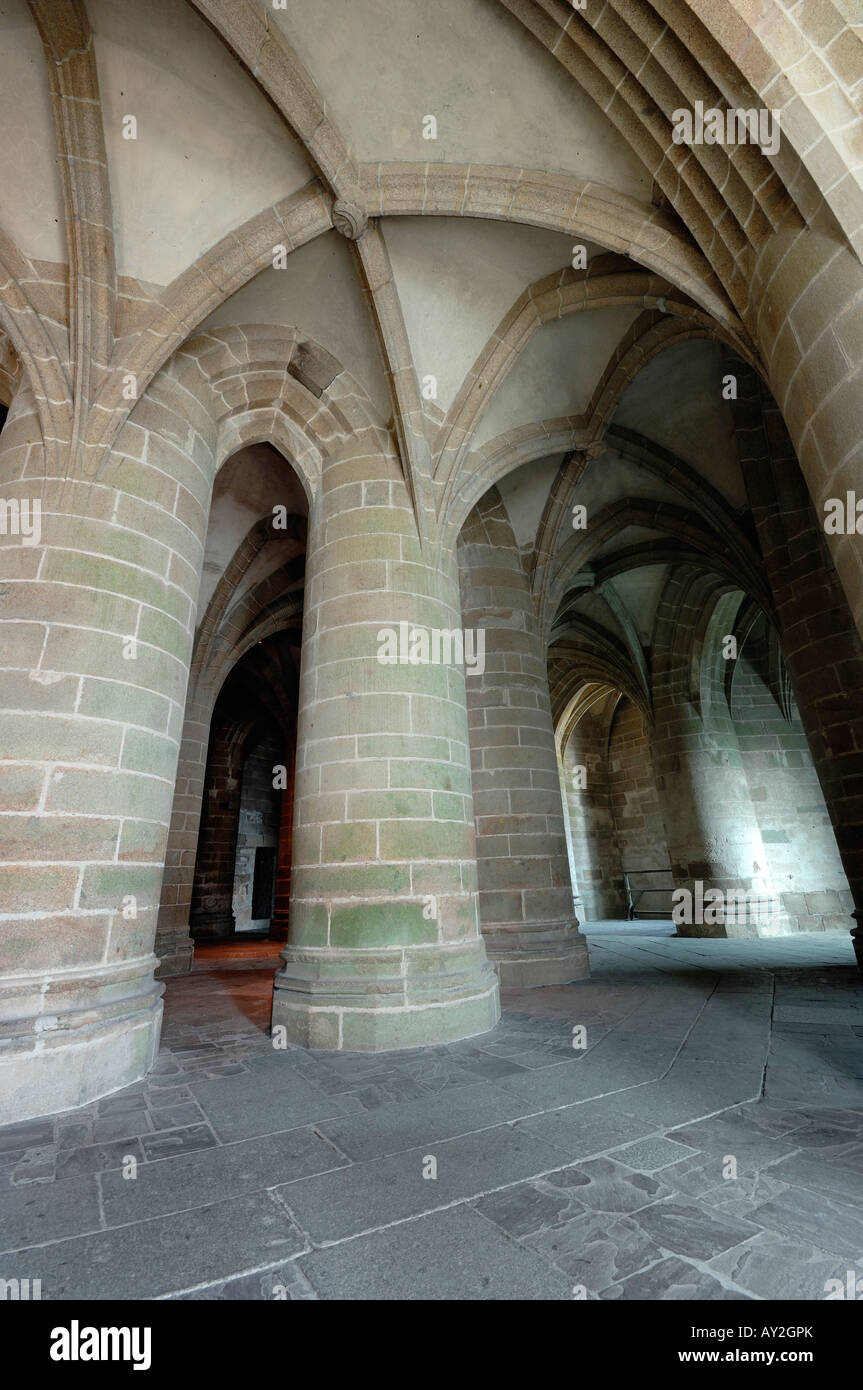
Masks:
[[[139,1081],[158,1051],[156,956],[0,981],[0,1125],[86,1105]]]

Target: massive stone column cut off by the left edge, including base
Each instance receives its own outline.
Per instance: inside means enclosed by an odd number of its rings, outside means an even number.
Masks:
[[[38,545],[0,535],[0,1123],[128,1086],[157,1048],[156,909],[210,485],[143,424],[93,475],[57,453],[22,396],[0,493],[42,514]]]

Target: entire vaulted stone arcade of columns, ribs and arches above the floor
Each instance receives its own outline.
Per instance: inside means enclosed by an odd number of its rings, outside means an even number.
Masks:
[[[684,899],[863,963],[853,13],[3,0],[0,1123],[238,942],[327,1054]]]

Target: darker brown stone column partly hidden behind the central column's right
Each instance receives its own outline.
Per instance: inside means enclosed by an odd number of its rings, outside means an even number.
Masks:
[[[546,657],[529,585],[496,489],[460,541],[463,623],[484,632],[467,676],[479,915],[504,987],[589,973],[578,931]]]

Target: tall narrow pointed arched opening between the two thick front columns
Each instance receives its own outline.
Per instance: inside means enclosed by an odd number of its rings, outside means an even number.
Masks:
[[[307,498],[268,443],[213,491],[156,952],[288,935]],[[274,949],[272,955],[277,954]]]

